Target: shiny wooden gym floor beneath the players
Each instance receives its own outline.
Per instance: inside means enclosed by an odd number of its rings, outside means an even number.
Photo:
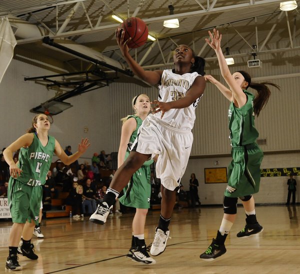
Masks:
[[[244,226],[244,211],[237,209],[236,221],[227,237],[227,252],[207,262],[199,258],[215,236],[222,208],[175,209],[169,226],[171,238],[165,251],[154,257],[156,264],[143,265],[125,257],[131,242],[132,213],[109,216],[104,225],[68,217],[43,219],[44,239],[35,236],[39,258],[19,256],[19,273],[300,273],[300,207],[257,206],[264,230],[248,238],[237,238]],[[154,236],[159,210],[149,211],[146,243]],[[8,253],[10,221],[0,220],[0,273]],[[90,272],[89,272],[90,271]]]

